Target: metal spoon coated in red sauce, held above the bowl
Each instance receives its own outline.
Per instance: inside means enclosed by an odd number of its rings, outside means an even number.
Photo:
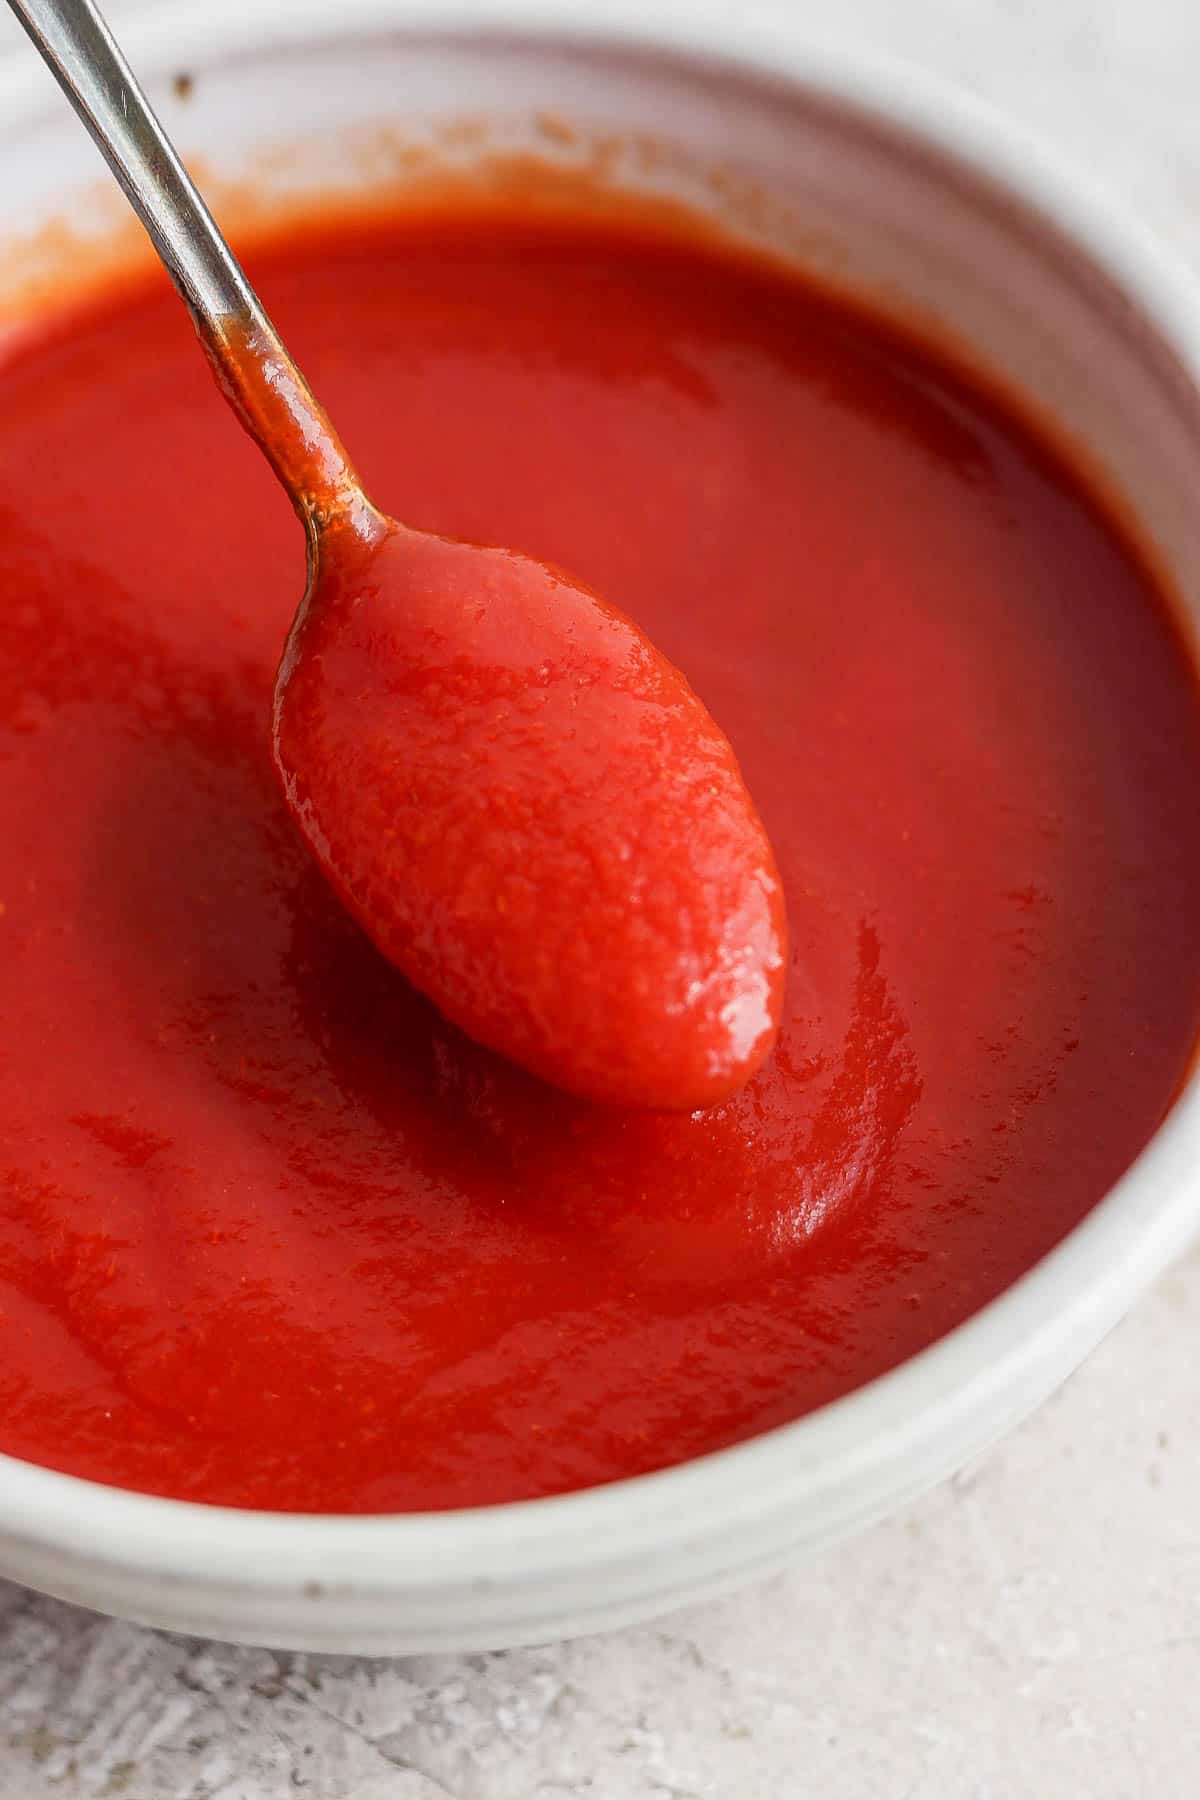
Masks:
[[[613,607],[365,497],[90,0],[9,5],[99,144],[308,535],[273,707],[345,907],[471,1037],[588,1098],[725,1098],[779,1024],[774,855],[702,702]]]

